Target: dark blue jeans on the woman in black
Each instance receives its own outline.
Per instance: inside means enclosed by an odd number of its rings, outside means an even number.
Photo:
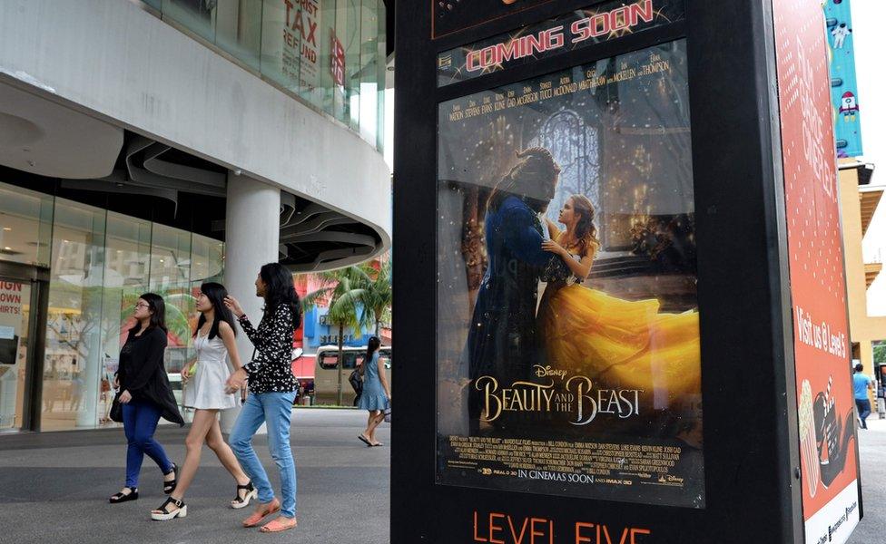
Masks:
[[[123,432],[126,434],[126,487],[138,487],[144,455],[153,459],[163,474],[172,471],[172,461],[166,456],[153,432],[160,422],[160,406],[151,401],[135,400],[123,404]]]

